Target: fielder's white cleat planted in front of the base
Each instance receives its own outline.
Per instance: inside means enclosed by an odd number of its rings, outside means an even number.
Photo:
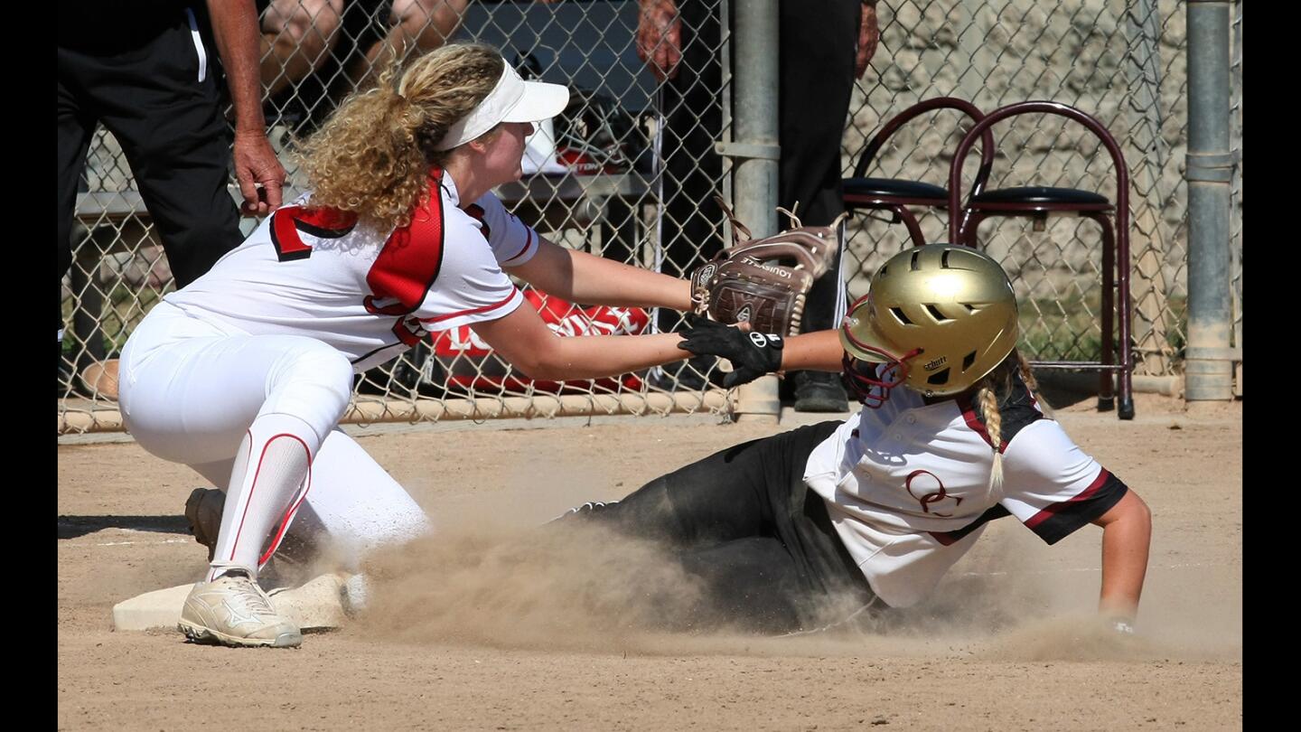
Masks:
[[[298,625],[281,617],[267,593],[243,572],[195,585],[185,598],[177,629],[196,643],[277,649],[303,643]]]

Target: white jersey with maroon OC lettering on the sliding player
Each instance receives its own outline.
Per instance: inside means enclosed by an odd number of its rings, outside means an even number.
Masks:
[[[926,404],[907,387],[864,408],[809,455],[804,481],[877,595],[908,607],[929,593],[994,518],[1016,516],[1054,543],[1115,505],[1125,486],[1047,418],[1020,378],[1002,415],[1003,483],[973,405]]]

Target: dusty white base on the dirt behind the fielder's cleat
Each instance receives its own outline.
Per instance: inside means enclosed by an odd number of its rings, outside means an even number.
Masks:
[[[338,628],[347,619],[343,612],[346,576],[321,574],[298,587],[277,587],[267,593],[276,612],[293,620],[301,630]],[[113,606],[116,630],[148,630],[176,628],[181,608],[194,585],[154,590]]]

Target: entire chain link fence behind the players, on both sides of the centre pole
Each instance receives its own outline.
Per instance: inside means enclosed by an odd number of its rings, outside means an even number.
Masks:
[[[731,0],[736,5],[736,0]],[[701,191],[730,198],[730,164],[713,152],[731,128],[727,0],[680,3],[678,77],[660,82],[637,57],[632,0],[562,3],[278,0],[262,5],[263,81],[273,145],[290,190],[306,181],[289,155],[377,65],[444,38],[503,49],[522,73],[567,83],[569,109],[531,141],[531,165],[500,195],[553,241],[680,275],[730,237]],[[735,9],[732,9],[735,12]],[[982,111],[1049,99],[1097,117],[1120,142],[1132,180],[1131,246],[1137,374],[1179,371],[1185,337],[1185,18],[1176,0],[882,0],[881,44],[855,85],[842,141],[850,175],[870,135],[922,99],[959,96]],[[1241,150],[1241,3],[1236,4],[1235,148]],[[690,25],[688,25],[690,23]],[[964,128],[937,112],[895,133],[868,175],[946,185]],[[1106,150],[1075,122],[1017,117],[995,128],[990,188],[1051,185],[1115,201]],[[688,150],[690,154],[682,151]],[[666,155],[666,151],[677,151]],[[972,159],[977,158],[972,155]],[[974,163],[968,162],[965,189]],[[172,287],[157,234],[112,135],[96,133],[78,195],[74,262],[64,280],[66,333],[59,378],[60,432],[120,429],[111,365],[131,328]],[[286,199],[289,195],[286,194]],[[921,211],[929,241],[947,238],[943,212]],[[1241,165],[1233,178],[1233,287],[1241,345]],[[252,219],[243,221],[250,232]],[[785,225],[785,221],[783,221]],[[847,225],[852,297],[885,258],[907,246],[902,225],[855,216]],[[1023,345],[1043,359],[1097,359],[1101,237],[1085,219],[991,219],[981,245],[1010,270],[1023,302]],[[667,330],[675,313],[549,307],[563,333]],[[435,333],[358,380],[350,419],[725,412],[703,371],[652,370],[619,379],[536,384],[468,332]],[[1239,384],[1240,386],[1240,384]]]

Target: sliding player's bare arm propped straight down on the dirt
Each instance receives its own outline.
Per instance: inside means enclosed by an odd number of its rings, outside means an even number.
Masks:
[[[1102,526],[1102,595],[1098,611],[1131,623],[1138,615],[1138,597],[1147,573],[1151,512],[1138,494],[1129,490],[1094,524]]]

